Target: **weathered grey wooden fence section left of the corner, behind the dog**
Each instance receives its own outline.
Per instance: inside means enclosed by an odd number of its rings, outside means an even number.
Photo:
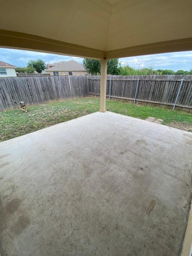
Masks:
[[[0,77],[0,111],[18,108],[15,101],[37,105],[86,96],[87,76]]]

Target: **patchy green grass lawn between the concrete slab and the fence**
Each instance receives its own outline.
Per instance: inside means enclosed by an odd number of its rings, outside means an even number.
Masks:
[[[119,101],[106,102],[106,109],[118,114],[146,119],[161,118],[162,124],[192,131],[192,114],[165,108],[136,105]],[[47,102],[21,109],[0,112],[0,141],[8,140],[42,128],[99,111],[99,99],[81,98]]]

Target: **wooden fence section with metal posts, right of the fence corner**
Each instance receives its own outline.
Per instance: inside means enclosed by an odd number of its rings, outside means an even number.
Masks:
[[[89,95],[99,96],[100,76],[89,76],[88,84]],[[191,112],[192,75],[107,76],[106,96],[173,109],[182,107]]]

